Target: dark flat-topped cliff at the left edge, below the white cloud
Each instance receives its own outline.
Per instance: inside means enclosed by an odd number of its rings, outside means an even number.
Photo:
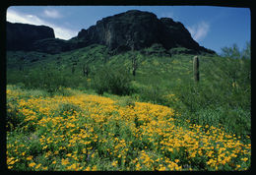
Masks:
[[[36,40],[55,38],[53,29],[45,26],[6,23],[7,50],[32,50]]]

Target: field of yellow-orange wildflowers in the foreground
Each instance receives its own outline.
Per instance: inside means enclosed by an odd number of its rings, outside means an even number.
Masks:
[[[7,86],[6,153],[8,169],[25,171],[247,170],[251,161],[250,142],[222,128],[180,125],[169,107],[14,86]]]

